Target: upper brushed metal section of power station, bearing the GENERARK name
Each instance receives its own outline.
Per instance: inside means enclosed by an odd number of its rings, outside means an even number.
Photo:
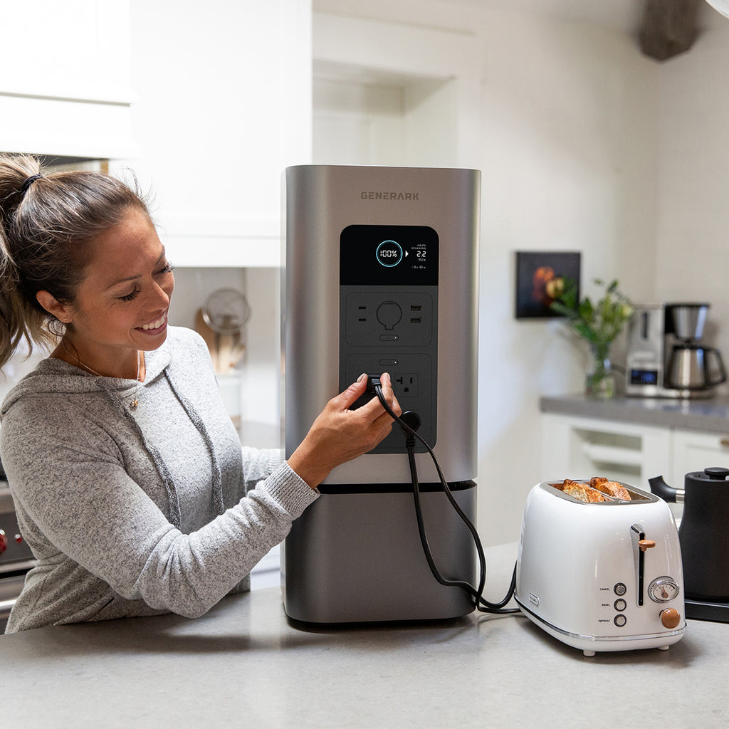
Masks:
[[[440,237],[437,443],[448,481],[477,470],[477,235],[480,172],[467,169],[302,165],[286,183],[284,332],[286,455],[339,391],[339,237],[348,225],[429,225]],[[376,191],[417,192],[417,200],[362,199]],[[372,373],[370,373],[372,374]],[[437,480],[426,453],[421,480]],[[399,453],[364,456],[324,483],[409,483]]]

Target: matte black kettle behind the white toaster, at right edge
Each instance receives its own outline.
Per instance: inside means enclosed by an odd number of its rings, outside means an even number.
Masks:
[[[728,476],[728,468],[687,473],[682,489],[663,476],[648,479],[656,496],[684,504],[679,542],[687,599],[729,603]]]

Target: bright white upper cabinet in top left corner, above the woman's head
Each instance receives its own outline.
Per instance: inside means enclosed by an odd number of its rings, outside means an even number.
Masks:
[[[0,149],[131,157],[127,0],[3,3]]]

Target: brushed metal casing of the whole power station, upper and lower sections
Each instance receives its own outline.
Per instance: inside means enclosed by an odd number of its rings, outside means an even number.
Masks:
[[[349,384],[340,381],[346,330],[340,321],[342,231],[353,225],[432,227],[439,252],[437,306],[432,307],[437,382],[429,387],[436,400],[430,410],[437,413],[434,452],[461,509],[475,521],[480,173],[303,165],[286,170],[284,192],[286,456],[327,401]],[[370,291],[375,298],[376,288]],[[416,463],[434,560],[444,577],[474,584],[470,534],[440,486],[433,486],[438,477],[429,455],[416,453]],[[284,608],[292,620],[434,620],[472,612],[467,593],[440,585],[427,566],[404,437],[402,452],[366,453],[332,470],[320,490],[281,550]]]

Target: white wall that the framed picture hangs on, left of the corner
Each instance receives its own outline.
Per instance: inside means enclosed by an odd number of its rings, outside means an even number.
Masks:
[[[515,320],[514,254],[579,250],[585,290],[617,276],[629,295],[654,296],[660,67],[607,28],[437,0],[361,6],[315,3],[393,28],[450,28],[479,63],[458,156],[483,171],[478,527],[486,544],[515,540],[526,494],[550,477],[539,397],[579,391],[585,359],[561,323]]]

